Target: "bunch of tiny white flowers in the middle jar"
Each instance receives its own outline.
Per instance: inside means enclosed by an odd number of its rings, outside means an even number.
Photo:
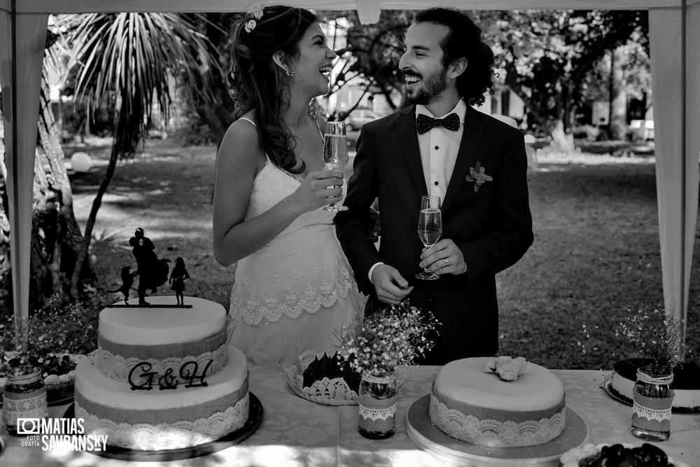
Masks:
[[[367,316],[356,326],[343,328],[338,347],[350,355],[348,361],[358,373],[391,375],[433,348],[427,335],[437,333],[438,323],[432,313],[421,312],[406,300]]]

